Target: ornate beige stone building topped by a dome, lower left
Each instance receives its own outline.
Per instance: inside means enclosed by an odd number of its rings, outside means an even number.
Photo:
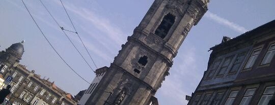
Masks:
[[[76,102],[71,94],[58,88],[54,82],[41,79],[35,71],[29,71],[26,66],[19,64],[24,52],[23,42],[11,45],[6,51],[0,52],[1,75],[6,79],[13,77],[10,83],[12,104],[34,105],[73,105]]]

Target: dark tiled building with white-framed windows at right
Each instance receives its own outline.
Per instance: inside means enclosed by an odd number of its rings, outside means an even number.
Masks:
[[[212,48],[191,104],[275,104],[275,20]],[[273,102],[273,103],[272,103]]]

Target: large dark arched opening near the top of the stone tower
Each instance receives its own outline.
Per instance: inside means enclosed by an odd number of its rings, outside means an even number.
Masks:
[[[167,14],[166,16],[163,17],[160,25],[157,27],[155,34],[164,39],[167,36],[167,33],[169,32],[170,28],[175,22],[175,16],[172,14]]]

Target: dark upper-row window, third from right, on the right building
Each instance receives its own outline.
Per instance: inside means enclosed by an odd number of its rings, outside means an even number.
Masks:
[[[243,61],[244,56],[245,56],[245,53],[240,53],[237,55],[236,60],[234,61],[229,73],[238,71],[238,69],[241,65],[241,62]]]

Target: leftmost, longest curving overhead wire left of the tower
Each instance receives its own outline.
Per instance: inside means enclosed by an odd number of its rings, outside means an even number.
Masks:
[[[32,20],[35,22],[36,26],[38,27],[38,29],[40,30],[40,32],[42,33],[43,37],[46,39],[46,41],[48,42],[48,44],[50,45],[50,47],[54,50],[54,52],[56,52],[58,54],[58,56],[62,59],[62,61],[78,76],[80,77],[82,80],[86,81],[88,84],[91,85],[90,82],[88,82],[87,80],[85,80],[84,78],[82,78],[78,73],[75,72],[75,70],[65,61],[65,59],[63,59],[63,57],[58,53],[58,51],[52,46],[52,44],[49,42],[48,38],[45,36],[44,32],[41,30],[41,28],[39,27],[39,25],[37,24],[37,22],[35,21],[33,15],[31,14],[31,12],[29,11],[28,7],[26,7],[25,3],[23,0],[21,0],[24,7],[26,8],[26,10],[29,12],[30,16],[32,17]]]

